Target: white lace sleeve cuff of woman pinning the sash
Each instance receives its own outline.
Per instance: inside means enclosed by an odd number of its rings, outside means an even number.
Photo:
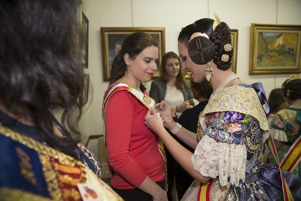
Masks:
[[[228,184],[228,177],[235,186],[240,179],[245,179],[247,149],[244,144],[218,143],[205,135],[197,144],[191,160],[194,170],[204,177],[219,176],[221,186]]]

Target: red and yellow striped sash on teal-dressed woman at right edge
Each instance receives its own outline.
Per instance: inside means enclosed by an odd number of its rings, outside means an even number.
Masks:
[[[280,164],[281,169],[288,172],[292,172],[293,169],[299,164],[301,160],[301,135],[297,140],[290,146],[290,149],[284,156],[283,161]]]

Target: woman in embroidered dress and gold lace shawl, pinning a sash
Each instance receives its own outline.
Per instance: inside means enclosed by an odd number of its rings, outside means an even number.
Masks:
[[[195,181],[182,200],[288,200],[301,199],[301,181],[286,177],[282,189],[277,167],[259,161],[270,132],[262,104],[267,103],[261,83],[245,84],[231,68],[233,49],[228,25],[209,18],[185,27],[178,37],[183,70],[194,82],[209,80],[213,87],[208,104],[200,114],[197,134],[173,121],[170,106],[162,101],[151,109],[145,123],[163,140],[178,163]],[[256,93],[257,92],[257,93]],[[268,112],[268,105],[267,111]],[[153,114],[153,115],[151,115]],[[164,121],[162,121],[162,119]],[[181,146],[164,128],[195,149]],[[271,143],[269,143],[271,145]],[[284,181],[284,180],[283,180]],[[296,190],[297,188],[297,190]],[[299,192],[298,192],[299,190]]]

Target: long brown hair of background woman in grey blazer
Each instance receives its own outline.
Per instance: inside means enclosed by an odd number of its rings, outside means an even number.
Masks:
[[[181,58],[175,52],[167,52],[163,55],[161,65],[160,65],[160,79],[163,81],[166,81],[166,82],[169,81],[169,77],[168,77],[168,75],[166,73],[166,69],[165,69],[167,59],[169,59],[169,58],[176,58],[179,61],[180,71],[175,80],[175,87],[177,89],[183,91],[185,88],[188,87],[188,83],[184,78],[184,71],[182,70]]]

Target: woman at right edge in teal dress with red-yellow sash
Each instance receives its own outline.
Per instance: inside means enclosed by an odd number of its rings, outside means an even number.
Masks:
[[[274,139],[281,169],[293,173],[301,179],[301,79],[298,75],[290,75],[281,86],[284,99],[290,105],[278,111],[272,118],[272,127],[280,135]],[[275,136],[276,137],[276,136]],[[268,163],[274,164],[272,157]]]

